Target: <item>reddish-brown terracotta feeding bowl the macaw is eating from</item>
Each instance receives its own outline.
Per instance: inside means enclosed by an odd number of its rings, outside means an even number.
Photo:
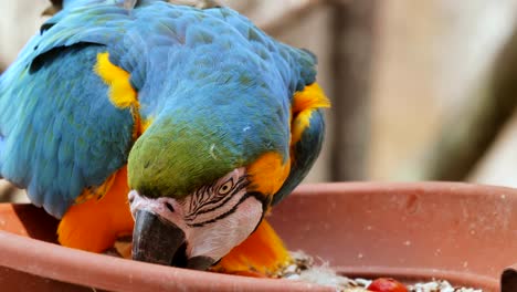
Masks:
[[[465,184],[328,184],[298,188],[270,221],[292,250],[348,277],[445,279],[499,291],[517,262],[517,190]],[[288,280],[189,271],[60,247],[56,221],[0,205],[2,291],[331,291]],[[513,270],[503,291],[516,284]],[[517,285],[514,285],[517,286]]]

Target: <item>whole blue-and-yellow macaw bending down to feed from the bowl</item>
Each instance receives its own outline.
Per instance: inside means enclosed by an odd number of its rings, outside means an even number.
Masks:
[[[64,0],[0,77],[0,176],[63,246],[271,275],[264,217],[321,148],[315,66],[229,8]]]

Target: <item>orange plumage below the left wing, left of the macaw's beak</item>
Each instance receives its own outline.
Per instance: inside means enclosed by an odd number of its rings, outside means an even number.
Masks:
[[[113,247],[119,236],[131,234],[133,217],[127,194],[127,169],[119,169],[106,194],[72,206],[57,228],[59,241],[70,248],[103,252]]]

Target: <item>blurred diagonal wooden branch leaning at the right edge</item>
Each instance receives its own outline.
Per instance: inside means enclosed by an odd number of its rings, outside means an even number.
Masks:
[[[468,102],[450,113],[436,142],[403,174],[416,180],[466,179],[515,113],[516,76],[517,28]]]

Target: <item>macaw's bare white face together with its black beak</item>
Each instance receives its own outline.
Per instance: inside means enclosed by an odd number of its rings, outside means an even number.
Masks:
[[[235,169],[184,198],[129,194],[134,259],[205,270],[246,239],[264,206],[247,191],[245,169]]]

